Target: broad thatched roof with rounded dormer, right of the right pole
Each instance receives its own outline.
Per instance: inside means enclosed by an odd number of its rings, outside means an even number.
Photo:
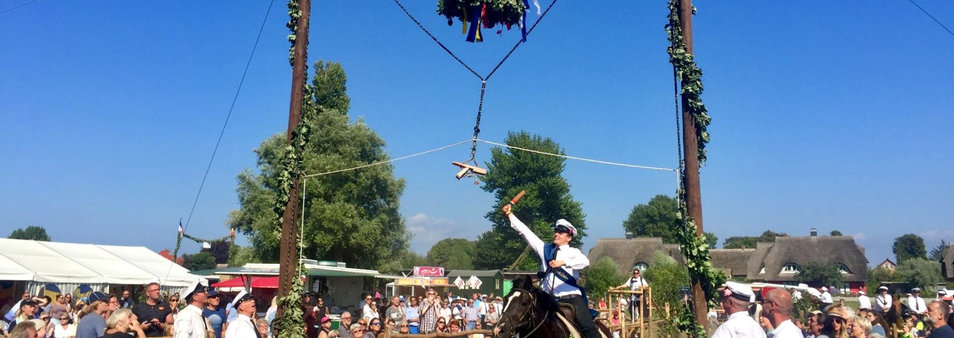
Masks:
[[[747,279],[751,281],[795,281],[796,274],[781,273],[785,264],[828,262],[848,268],[845,282],[864,282],[868,260],[864,249],[851,236],[777,237],[775,243],[758,243],[749,259]]]

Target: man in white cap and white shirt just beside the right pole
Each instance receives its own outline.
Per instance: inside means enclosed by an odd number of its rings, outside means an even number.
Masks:
[[[716,328],[712,338],[765,338],[765,331],[749,316],[749,305],[755,299],[751,287],[726,282],[719,305],[729,314],[729,319]]]

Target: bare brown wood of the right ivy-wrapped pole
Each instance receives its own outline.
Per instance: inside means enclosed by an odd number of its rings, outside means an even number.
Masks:
[[[683,41],[686,43],[686,52],[693,53],[693,0],[679,1],[679,22],[682,28]],[[689,99],[682,95],[682,150],[685,154],[686,208],[689,216],[695,222],[695,235],[702,235],[702,196],[699,189],[699,149],[698,138],[695,137],[695,119],[689,113]],[[693,280],[693,308],[695,321],[708,329],[709,321],[706,313],[709,308],[706,304],[706,295],[702,291],[699,281]]]

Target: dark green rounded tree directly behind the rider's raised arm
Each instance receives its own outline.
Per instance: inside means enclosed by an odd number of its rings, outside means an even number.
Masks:
[[[528,132],[508,133],[506,143],[509,146],[536,150],[551,154],[564,154],[563,149],[550,137],[530,135]],[[586,237],[587,225],[584,222],[586,215],[580,202],[574,201],[570,195],[570,183],[563,178],[565,158],[535,154],[521,150],[510,150],[496,147],[490,149],[490,162],[483,189],[492,192],[496,202],[487,212],[487,220],[493,223],[493,231],[500,236],[499,243],[492,243],[492,249],[500,251],[499,255],[484,258],[474,257],[474,265],[487,266],[501,264],[507,266],[514,262],[527,247],[520,234],[510,228],[510,222],[501,212],[501,208],[517,195],[521,190],[527,195],[513,207],[513,213],[541,239],[549,239],[553,235],[553,223],[565,219],[579,231],[573,237],[570,245],[580,247]],[[546,240],[545,240],[546,241]],[[478,240],[480,251],[480,240]],[[533,259],[535,255],[528,255],[519,269],[540,268],[540,262]]]

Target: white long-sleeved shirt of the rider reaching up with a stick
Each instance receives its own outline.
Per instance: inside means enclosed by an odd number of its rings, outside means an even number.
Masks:
[[[517,230],[520,236],[523,236],[524,239],[527,240],[527,243],[533,248],[533,251],[536,251],[537,255],[540,256],[540,262],[543,262],[541,271],[547,271],[549,265],[547,265],[547,262],[545,262],[543,258],[543,241],[540,241],[540,238],[527,227],[527,224],[520,222],[513,214],[510,214],[510,227]],[[554,259],[563,261],[564,265],[559,268],[567,271],[567,273],[577,280],[580,278],[579,270],[590,266],[590,259],[587,258],[587,255],[584,255],[583,252],[580,252],[580,249],[572,247],[569,244],[560,245],[556,250],[556,257]],[[543,286],[544,291],[550,292],[550,290],[552,290],[553,295],[556,297],[581,294],[579,288],[563,283],[559,278],[553,276],[552,273],[548,273],[547,276],[544,276],[540,284]]]

